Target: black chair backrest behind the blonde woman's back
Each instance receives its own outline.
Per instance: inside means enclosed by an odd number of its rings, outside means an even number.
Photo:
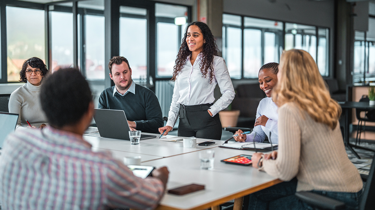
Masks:
[[[372,164],[369,172],[369,176],[365,183],[365,188],[362,192],[361,200],[359,201],[360,210],[370,210],[375,207],[375,155],[372,158]]]

